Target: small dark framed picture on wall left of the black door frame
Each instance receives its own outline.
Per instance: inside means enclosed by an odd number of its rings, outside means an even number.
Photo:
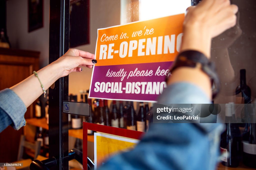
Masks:
[[[44,26],[43,16],[43,0],[28,0],[28,32]]]

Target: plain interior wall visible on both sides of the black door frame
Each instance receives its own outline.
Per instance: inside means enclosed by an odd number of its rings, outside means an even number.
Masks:
[[[40,51],[40,67],[48,64],[49,58],[49,5],[44,0],[44,27],[28,32],[27,0],[7,1],[7,30],[13,48]],[[95,53],[97,29],[120,25],[120,0],[90,0],[90,44],[76,48]],[[88,90],[92,69],[83,68],[81,73],[69,75],[69,93],[78,94],[79,90]]]

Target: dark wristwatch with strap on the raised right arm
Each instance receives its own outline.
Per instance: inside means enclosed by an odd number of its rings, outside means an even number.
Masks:
[[[179,67],[200,67],[210,77],[212,99],[217,96],[220,90],[220,81],[215,71],[215,65],[203,53],[194,50],[183,51],[176,57],[175,63],[170,68],[170,72]]]

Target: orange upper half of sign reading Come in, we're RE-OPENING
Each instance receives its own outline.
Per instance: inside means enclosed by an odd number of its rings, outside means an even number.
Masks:
[[[98,29],[96,66],[174,61],[184,14]]]

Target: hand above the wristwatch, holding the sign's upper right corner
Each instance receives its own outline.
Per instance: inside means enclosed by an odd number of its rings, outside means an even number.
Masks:
[[[210,57],[211,39],[236,25],[238,7],[230,0],[203,0],[189,7],[183,24],[181,51],[197,50]]]

